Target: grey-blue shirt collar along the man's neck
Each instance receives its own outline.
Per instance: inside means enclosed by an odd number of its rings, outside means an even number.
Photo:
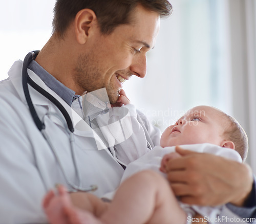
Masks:
[[[39,78],[44,81],[50,89],[52,89],[56,94],[58,94],[58,96],[62,98],[62,100],[71,106],[73,98],[76,96],[72,89],[58,81],[34,60],[29,64],[28,69],[32,70],[36,75],[38,75]]]

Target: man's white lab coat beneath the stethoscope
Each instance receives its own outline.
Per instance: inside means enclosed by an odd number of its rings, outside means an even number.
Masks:
[[[48,143],[31,118],[22,87],[22,61],[16,61],[8,74],[9,78],[0,83],[0,223],[46,223],[42,197],[56,183],[66,185],[66,182]],[[74,127],[79,122],[79,128],[74,131],[74,148],[82,186],[97,185],[95,194],[98,196],[116,189],[124,170],[110,151],[97,150],[95,133],[93,135],[87,123],[84,122],[81,128],[81,118],[71,107],[36,74],[30,70],[28,74],[66,108]],[[62,116],[55,105],[31,86],[29,91],[40,118],[49,112]],[[77,184],[70,142],[63,124],[52,116],[46,118],[45,124],[66,174]],[[158,131],[152,127],[150,130],[150,136],[159,137]]]

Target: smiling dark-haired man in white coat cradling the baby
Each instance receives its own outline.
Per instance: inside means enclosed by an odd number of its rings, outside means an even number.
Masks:
[[[132,75],[143,78],[146,53],[154,47],[160,18],[171,11],[164,0],[56,1],[53,35],[27,71],[66,108],[75,127],[74,141],[56,106],[29,86],[36,112],[46,125],[47,140],[41,135],[23,92],[23,62],[16,61],[9,78],[0,83],[1,223],[46,223],[41,199],[56,183],[70,190],[74,190],[72,185],[96,185],[98,196],[118,187],[125,163],[110,146],[99,150],[102,143],[95,140],[97,133],[92,129],[97,116],[108,110],[102,108],[91,116],[90,110],[99,108],[100,102],[83,104],[82,100],[85,93],[105,88],[110,103],[116,104],[125,80]],[[84,110],[84,105],[90,108]],[[159,131],[139,111],[138,119],[153,146],[159,144]],[[130,147],[129,160],[146,153],[143,150]],[[197,205],[229,202],[229,212],[255,216],[256,189],[248,166],[214,155],[178,152],[183,156],[172,163],[168,178],[182,201]]]

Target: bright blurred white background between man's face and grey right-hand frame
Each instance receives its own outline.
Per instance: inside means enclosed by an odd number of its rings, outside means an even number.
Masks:
[[[173,15],[162,20],[147,76],[127,83],[129,97],[161,129],[196,105],[232,110],[227,1],[170,2]]]

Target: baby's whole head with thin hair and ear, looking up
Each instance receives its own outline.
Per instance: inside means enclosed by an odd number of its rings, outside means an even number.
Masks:
[[[235,149],[243,161],[247,156],[248,139],[244,129],[234,118],[210,106],[188,110],[164,130],[160,140],[162,147],[199,143]]]

